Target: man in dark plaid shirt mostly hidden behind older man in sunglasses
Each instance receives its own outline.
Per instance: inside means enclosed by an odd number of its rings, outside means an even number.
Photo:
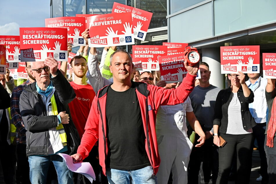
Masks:
[[[31,62],[25,62],[25,71],[28,73],[28,80],[17,86],[12,91],[10,100],[10,113],[12,117],[12,123],[16,127],[16,144],[17,144],[17,170],[16,179],[18,183],[30,183],[30,167],[28,163],[28,157],[26,156],[26,129],[20,115],[19,110],[19,98],[24,91],[24,87],[35,82],[35,77],[31,74]]]

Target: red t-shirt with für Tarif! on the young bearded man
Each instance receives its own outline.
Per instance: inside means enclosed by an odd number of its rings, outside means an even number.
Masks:
[[[82,138],[92,101],[96,94],[92,86],[89,84],[78,85],[72,81],[70,82],[70,85],[73,87],[76,93],[76,98],[68,105],[71,112],[72,120],[77,128],[80,138]]]

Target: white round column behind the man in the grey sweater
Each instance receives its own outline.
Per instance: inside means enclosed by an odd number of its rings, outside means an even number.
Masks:
[[[220,89],[225,88],[225,74],[221,74],[220,48],[202,48],[202,61],[209,65],[210,84]]]

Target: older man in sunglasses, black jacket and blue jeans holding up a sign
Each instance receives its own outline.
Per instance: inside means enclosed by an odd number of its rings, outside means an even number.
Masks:
[[[80,142],[68,107],[76,95],[57,66],[52,57],[31,62],[30,72],[36,81],[20,95],[31,183],[45,183],[53,162],[58,183],[73,184],[72,172],[57,153],[74,154]]]

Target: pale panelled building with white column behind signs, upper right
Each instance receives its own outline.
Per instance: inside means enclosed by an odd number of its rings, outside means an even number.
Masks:
[[[168,42],[198,48],[212,71],[211,84],[223,88],[221,46],[259,45],[260,53],[276,52],[275,7],[275,0],[168,0]]]

